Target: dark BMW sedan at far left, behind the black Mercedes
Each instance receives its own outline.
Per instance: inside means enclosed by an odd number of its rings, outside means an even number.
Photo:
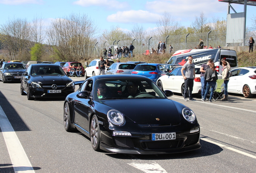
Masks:
[[[21,81],[21,75],[26,67],[21,62],[7,62],[0,68],[0,80],[3,83],[10,81]]]

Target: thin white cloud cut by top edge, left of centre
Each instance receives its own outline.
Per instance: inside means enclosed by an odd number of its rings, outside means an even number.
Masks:
[[[74,2],[76,5],[80,6],[104,6],[111,8],[127,8],[129,5],[127,2],[119,2],[117,0],[77,0]]]

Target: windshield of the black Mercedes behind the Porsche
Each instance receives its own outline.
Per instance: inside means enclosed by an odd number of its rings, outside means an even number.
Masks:
[[[60,66],[33,66],[32,75],[65,75]]]

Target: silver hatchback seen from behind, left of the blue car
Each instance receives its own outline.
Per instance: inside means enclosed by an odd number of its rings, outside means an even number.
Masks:
[[[105,70],[105,74],[132,74],[135,66],[134,63],[116,62]]]

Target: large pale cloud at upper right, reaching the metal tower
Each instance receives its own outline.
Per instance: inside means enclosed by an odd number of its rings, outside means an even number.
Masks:
[[[218,2],[217,0],[157,0],[146,3],[146,9],[151,12],[163,13],[169,12],[176,19],[187,18],[190,20],[194,16],[199,16],[201,12],[206,17],[213,17],[212,14],[227,14],[227,3]]]

